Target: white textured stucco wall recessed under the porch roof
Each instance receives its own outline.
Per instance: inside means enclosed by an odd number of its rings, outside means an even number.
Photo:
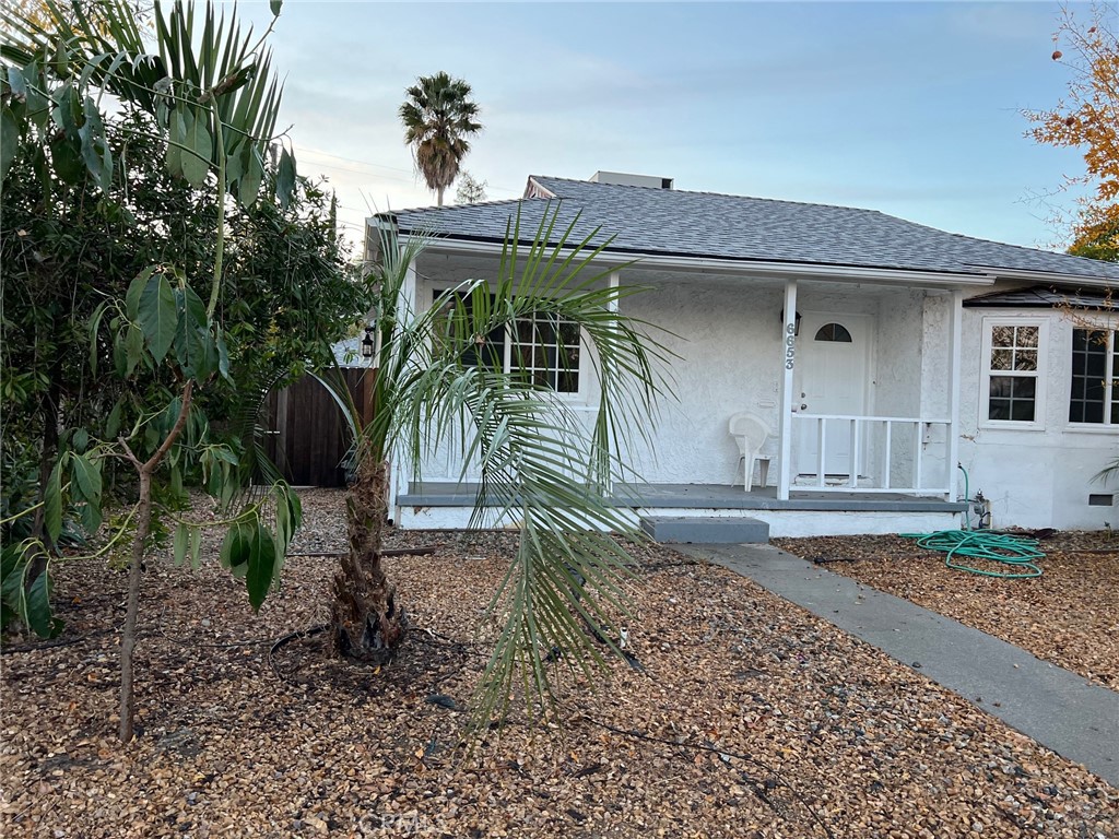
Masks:
[[[416,296],[419,307],[431,304],[436,291],[471,276],[492,273],[463,267],[455,261],[421,260]],[[774,486],[780,469],[778,412],[780,378],[783,373],[780,311],[783,287],[772,281],[753,282],[749,277],[717,279],[687,275],[660,275],[647,280],[639,271],[621,274],[622,284],[648,285],[649,290],[626,298],[624,314],[648,321],[666,330],[656,338],[678,358],[671,362],[674,393],[659,404],[651,444],[636,442],[623,459],[636,471],[631,480],[650,483],[741,482],[739,452],[727,431],[732,414],[749,411],[758,414],[771,430],[762,447],[770,459],[769,481]],[[834,290],[833,290],[834,289]],[[928,300],[922,291],[881,286],[843,285],[828,289],[803,283],[797,309],[800,312],[852,313],[868,318],[868,367],[866,411],[885,416],[921,416],[923,406],[934,397],[930,389],[942,388],[943,379],[930,381],[922,375],[927,362],[925,345],[935,347],[935,364],[947,365],[947,308],[941,318],[928,317]],[[799,341],[811,340],[802,334]],[[584,368],[585,369],[585,368]],[[922,384],[923,383],[923,384]],[[598,386],[579,399],[566,399],[579,420],[589,427],[598,407]],[[942,399],[946,402],[946,399]],[[928,411],[924,412],[928,416]],[[947,407],[938,413],[947,416]],[[867,464],[877,474],[883,459],[881,430],[868,432]],[[912,436],[895,432],[891,446],[891,472],[895,486],[909,486],[913,471]],[[877,437],[875,436],[877,435]],[[436,444],[421,468],[425,481],[454,481],[462,475],[455,442]],[[940,452],[946,446],[934,440],[927,450]],[[754,486],[760,470],[755,469]],[[940,466],[927,464],[925,473],[939,477]],[[468,465],[466,479],[477,477]],[[630,479],[628,479],[630,480]]]

